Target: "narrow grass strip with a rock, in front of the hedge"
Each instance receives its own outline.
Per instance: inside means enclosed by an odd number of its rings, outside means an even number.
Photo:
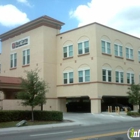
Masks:
[[[19,121],[0,122],[0,128],[16,127],[17,123],[19,123]],[[27,121],[26,126],[45,125],[45,124],[54,124],[54,123],[60,123],[60,121],[34,121],[34,122]]]

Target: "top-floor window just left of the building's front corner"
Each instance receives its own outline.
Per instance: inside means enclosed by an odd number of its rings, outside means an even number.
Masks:
[[[89,41],[78,43],[78,54],[89,53]]]

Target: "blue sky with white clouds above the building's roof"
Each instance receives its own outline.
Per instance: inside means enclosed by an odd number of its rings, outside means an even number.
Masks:
[[[0,0],[0,34],[43,15],[64,22],[61,32],[98,22],[140,37],[140,0]]]

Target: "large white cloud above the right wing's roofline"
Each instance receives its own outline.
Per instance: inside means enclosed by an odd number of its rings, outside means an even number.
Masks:
[[[98,22],[140,37],[139,0],[91,0],[69,12],[79,21],[78,26]]]

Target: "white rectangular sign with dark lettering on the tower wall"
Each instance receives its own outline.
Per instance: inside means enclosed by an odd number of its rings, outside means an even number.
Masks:
[[[12,49],[17,49],[19,47],[25,46],[29,44],[29,37],[26,37],[24,39],[15,41],[12,43]]]

